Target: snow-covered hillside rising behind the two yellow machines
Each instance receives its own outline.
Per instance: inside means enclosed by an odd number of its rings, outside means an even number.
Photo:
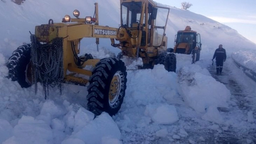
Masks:
[[[29,43],[29,31],[33,33],[35,25],[48,23],[50,18],[54,22],[61,22],[65,14],[72,15],[74,9],[80,10],[81,17],[93,16],[94,3],[96,2],[99,4],[99,24],[119,27],[120,2],[118,0],[90,0],[86,2],[77,0],[75,3],[69,0],[55,0],[54,2],[27,0],[22,5],[1,1],[0,16],[2,22],[0,26],[3,35],[0,36],[0,46],[3,48],[0,52],[10,53],[22,43]],[[228,26],[188,10],[170,8],[166,31],[168,47],[174,46],[176,32],[189,25],[192,30],[201,34],[202,53],[214,51],[213,49],[217,48],[219,44],[223,44],[228,53],[237,51],[236,48],[256,48],[254,43],[249,42]],[[101,40],[100,43],[104,47],[111,48],[110,40]],[[84,41],[85,46],[90,44],[94,44],[94,41]]]

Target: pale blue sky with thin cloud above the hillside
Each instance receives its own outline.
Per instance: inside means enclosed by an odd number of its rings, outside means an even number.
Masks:
[[[176,8],[186,0],[154,0]],[[209,17],[238,31],[256,43],[256,0],[188,0],[188,10]]]

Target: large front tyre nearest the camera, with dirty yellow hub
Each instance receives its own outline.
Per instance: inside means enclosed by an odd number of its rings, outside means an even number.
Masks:
[[[123,103],[127,82],[124,62],[117,58],[104,58],[94,68],[88,86],[88,110],[95,115],[107,112],[115,115]]]

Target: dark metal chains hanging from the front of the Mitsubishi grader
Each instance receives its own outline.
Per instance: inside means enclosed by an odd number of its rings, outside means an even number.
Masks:
[[[63,89],[63,38],[55,38],[52,43],[40,44],[35,35],[30,36],[31,59],[33,63],[32,83],[37,93],[37,82],[43,84],[44,98],[49,96],[49,85]]]

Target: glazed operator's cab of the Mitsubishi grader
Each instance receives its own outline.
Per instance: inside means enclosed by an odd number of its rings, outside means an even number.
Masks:
[[[120,27],[125,28],[132,45],[140,42],[140,48],[160,47],[169,8],[158,7],[152,0],[120,0],[120,4]]]

